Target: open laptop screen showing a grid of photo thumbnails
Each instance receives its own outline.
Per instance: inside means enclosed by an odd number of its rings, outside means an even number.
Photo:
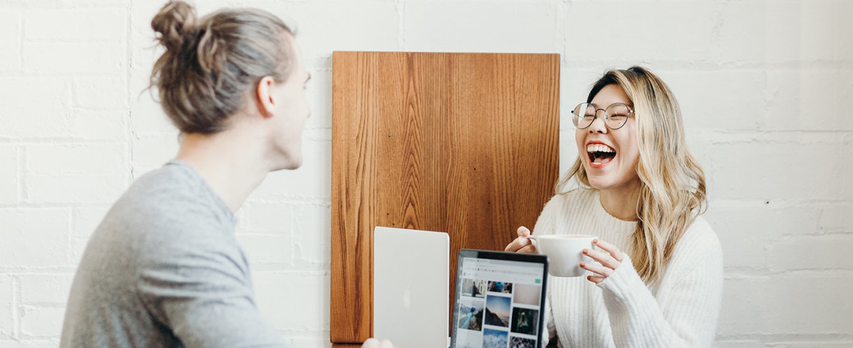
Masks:
[[[451,348],[541,346],[548,258],[462,249]]]

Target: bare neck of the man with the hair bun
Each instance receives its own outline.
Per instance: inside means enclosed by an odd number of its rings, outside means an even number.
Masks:
[[[176,159],[198,171],[231,212],[236,212],[270,171],[261,138],[241,130],[186,134]]]

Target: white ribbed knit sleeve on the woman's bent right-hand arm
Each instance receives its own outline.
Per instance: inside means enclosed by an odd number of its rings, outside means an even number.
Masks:
[[[711,346],[722,301],[722,251],[717,236],[704,227],[705,236],[679,242],[686,246],[667,265],[675,274],[668,275],[671,282],[659,288],[657,298],[627,255],[599,284],[617,346]]]

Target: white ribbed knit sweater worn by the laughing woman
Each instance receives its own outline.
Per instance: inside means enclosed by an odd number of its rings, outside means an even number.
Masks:
[[[625,258],[599,285],[586,276],[548,278],[546,341],[556,336],[562,347],[711,346],[722,299],[717,235],[697,217],[659,281],[647,286],[628,258],[635,228],[635,222],[608,214],[595,189],[576,188],[548,201],[534,235],[597,235]]]

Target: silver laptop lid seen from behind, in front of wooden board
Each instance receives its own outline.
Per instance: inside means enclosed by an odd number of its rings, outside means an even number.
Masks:
[[[374,338],[445,348],[450,327],[450,237],[374,229]]]

